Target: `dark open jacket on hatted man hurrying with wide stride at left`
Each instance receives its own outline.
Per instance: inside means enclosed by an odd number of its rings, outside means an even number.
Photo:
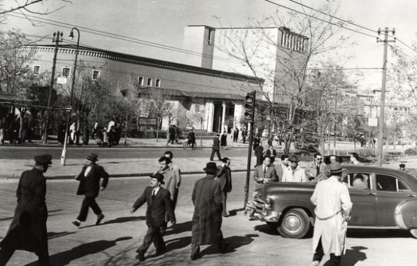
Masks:
[[[90,172],[84,176],[87,165],[84,165],[80,174],[76,176],[76,180],[80,181],[78,185],[77,195],[85,195],[85,197],[97,197],[100,191],[100,179],[103,179],[101,186],[106,188],[108,183],[108,174],[100,165],[92,165]]]

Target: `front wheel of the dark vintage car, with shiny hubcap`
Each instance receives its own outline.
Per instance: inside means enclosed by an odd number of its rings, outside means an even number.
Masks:
[[[290,209],[276,229],[283,237],[302,238],[310,229],[309,216],[303,209]]]

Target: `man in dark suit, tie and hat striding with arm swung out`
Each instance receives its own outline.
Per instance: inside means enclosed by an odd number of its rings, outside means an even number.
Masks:
[[[171,195],[168,190],[161,187],[163,184],[164,176],[162,174],[156,173],[150,176],[150,186],[145,188],[141,197],[134,202],[130,210],[130,213],[133,214],[145,202],[148,204],[148,208],[146,209],[146,225],[148,225],[148,231],[143,238],[143,244],[136,250],[138,253],[136,258],[140,261],[145,260],[145,253],[152,243],[155,245],[157,255],[165,253],[167,246],[165,246],[160,231],[160,228],[165,222],[165,213],[168,214],[172,225],[176,223],[174,212],[171,208],[171,200],[169,199]]]

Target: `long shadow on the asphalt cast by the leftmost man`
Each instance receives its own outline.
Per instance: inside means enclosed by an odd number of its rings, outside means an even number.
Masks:
[[[119,237],[118,239],[114,240],[98,240],[92,241],[90,243],[80,244],[80,246],[76,246],[71,248],[68,251],[62,251],[60,253],[56,253],[50,256],[50,262],[52,265],[55,266],[64,266],[69,265],[72,260],[76,260],[78,258],[83,258],[85,255],[99,253],[101,251],[106,250],[107,248],[111,248],[115,246],[118,241],[125,241],[132,239],[132,237]],[[37,262],[31,262],[25,266],[35,266]]]

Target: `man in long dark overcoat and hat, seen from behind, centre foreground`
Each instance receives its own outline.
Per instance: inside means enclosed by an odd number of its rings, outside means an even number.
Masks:
[[[199,179],[192,190],[191,260],[197,260],[201,245],[217,244],[221,252],[225,252],[228,246],[220,230],[222,194],[220,183],[214,179],[217,174],[215,162],[208,162],[204,171],[206,176]]]

